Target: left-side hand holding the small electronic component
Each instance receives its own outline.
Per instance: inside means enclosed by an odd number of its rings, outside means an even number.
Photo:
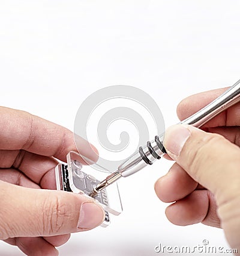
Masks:
[[[55,246],[70,233],[104,219],[103,209],[84,196],[53,190],[55,158],[65,161],[76,151],[73,133],[10,108],[0,107],[0,118],[0,239],[27,255],[58,255]],[[83,139],[81,153],[97,160]]]

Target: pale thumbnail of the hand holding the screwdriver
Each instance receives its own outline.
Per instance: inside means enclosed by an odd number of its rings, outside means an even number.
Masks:
[[[190,136],[190,130],[185,125],[170,126],[165,133],[164,147],[170,155],[179,156],[182,147]]]

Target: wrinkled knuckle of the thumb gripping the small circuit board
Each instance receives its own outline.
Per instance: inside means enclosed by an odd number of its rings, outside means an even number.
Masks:
[[[43,220],[44,233],[58,234],[64,223],[67,223],[70,218],[66,202],[61,196],[54,195],[47,200],[44,208],[46,209]]]

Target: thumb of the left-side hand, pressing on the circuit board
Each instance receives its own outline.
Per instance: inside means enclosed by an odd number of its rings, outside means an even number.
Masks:
[[[29,189],[0,181],[0,239],[55,236],[95,228],[100,205],[70,192]]]

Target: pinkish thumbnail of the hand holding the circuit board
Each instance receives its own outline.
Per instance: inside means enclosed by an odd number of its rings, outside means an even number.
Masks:
[[[94,202],[84,202],[80,208],[79,223],[77,228],[95,228],[104,219],[104,211]]]

